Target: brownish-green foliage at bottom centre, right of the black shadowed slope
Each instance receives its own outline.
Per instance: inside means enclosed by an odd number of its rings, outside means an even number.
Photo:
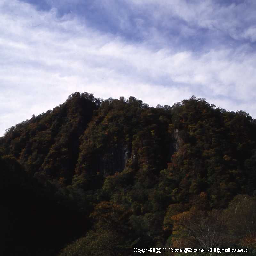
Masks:
[[[85,237],[60,252],[60,256],[129,255],[139,239],[128,225],[130,212],[109,202],[97,204],[91,214],[95,225]]]

